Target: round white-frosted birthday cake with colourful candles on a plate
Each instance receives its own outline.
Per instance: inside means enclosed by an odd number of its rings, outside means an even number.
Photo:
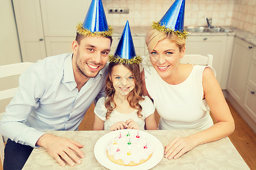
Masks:
[[[107,146],[108,158],[119,165],[135,166],[146,162],[153,154],[150,142],[139,130],[118,130]]]

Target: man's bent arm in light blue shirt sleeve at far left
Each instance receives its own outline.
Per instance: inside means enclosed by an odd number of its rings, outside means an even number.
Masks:
[[[27,69],[19,78],[19,87],[0,122],[0,133],[12,141],[35,147],[44,132],[23,124],[31,112],[39,106],[43,95],[43,82],[32,69]]]

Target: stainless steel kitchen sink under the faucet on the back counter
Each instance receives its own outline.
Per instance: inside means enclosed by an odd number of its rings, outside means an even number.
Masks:
[[[189,26],[185,27],[188,32],[232,32],[226,27]]]

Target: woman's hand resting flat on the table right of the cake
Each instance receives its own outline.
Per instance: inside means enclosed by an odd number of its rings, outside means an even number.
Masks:
[[[192,150],[196,147],[196,142],[189,137],[174,138],[167,146],[164,148],[164,158],[167,159],[177,159],[185,152]]]

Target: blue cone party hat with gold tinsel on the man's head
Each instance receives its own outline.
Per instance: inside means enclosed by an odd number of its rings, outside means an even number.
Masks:
[[[77,33],[82,36],[112,36],[113,28],[108,26],[101,0],[92,0],[84,19],[77,25]]]

